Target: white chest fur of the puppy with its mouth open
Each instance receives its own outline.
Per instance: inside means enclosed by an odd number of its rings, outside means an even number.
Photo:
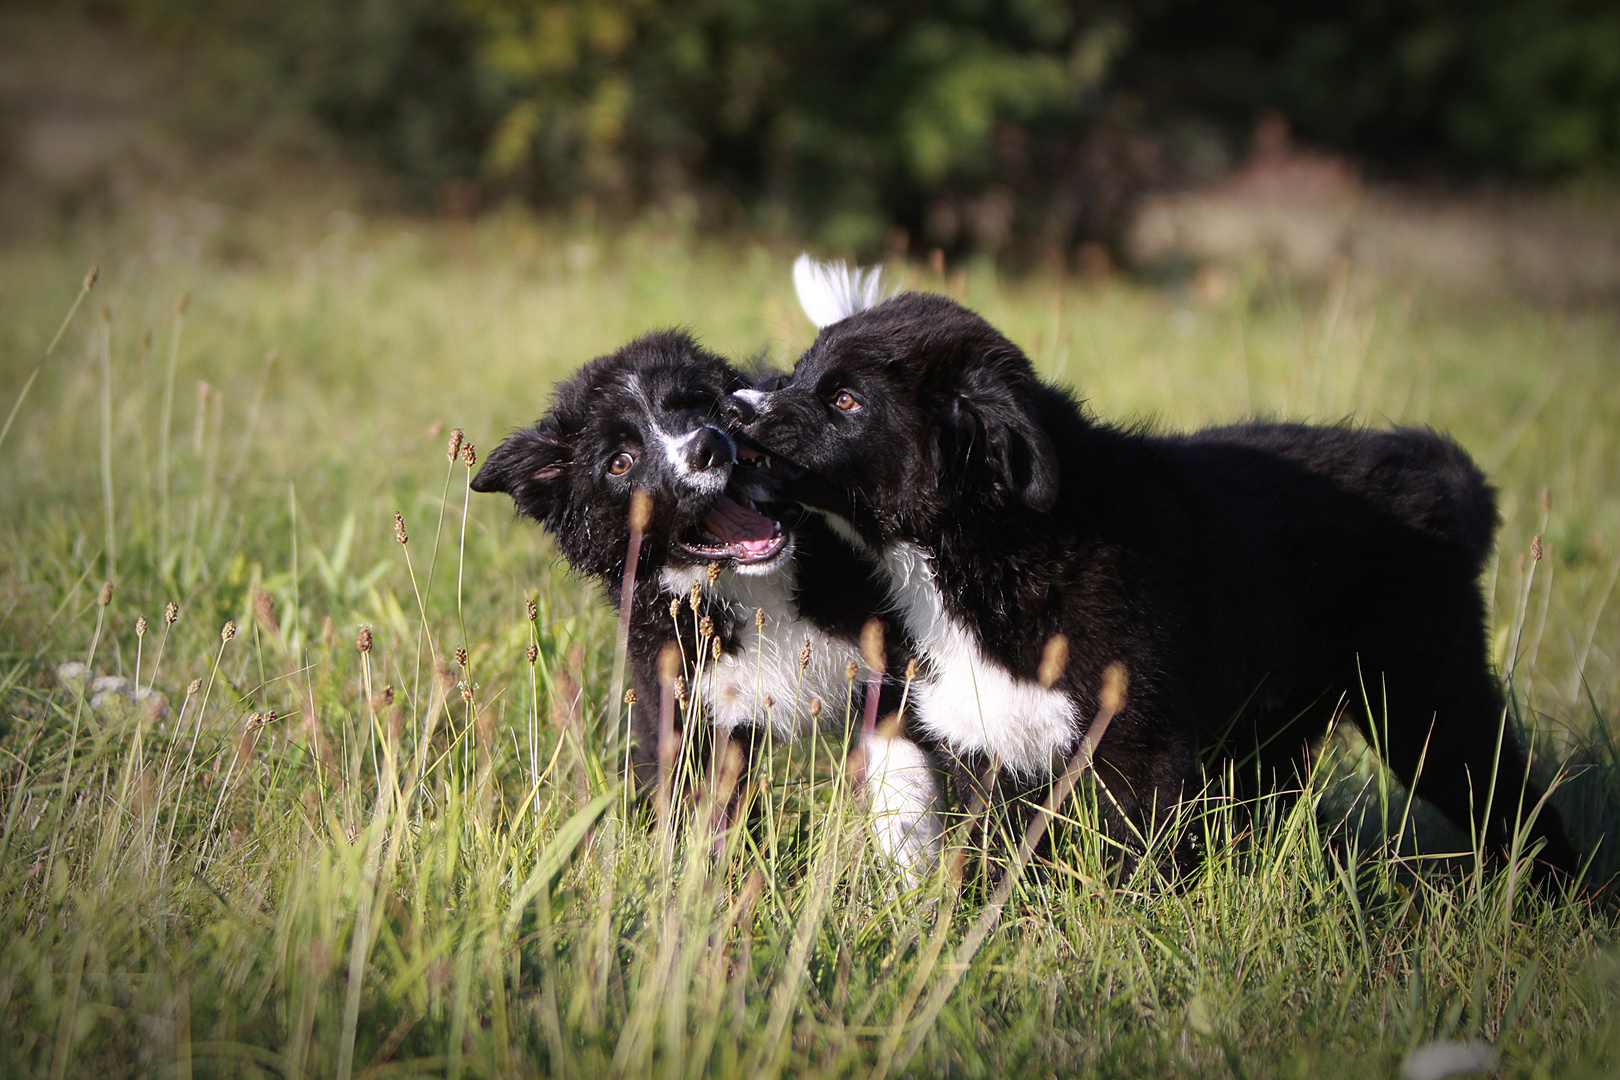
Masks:
[[[664,570],[664,589],[688,596],[703,567]],[[849,682],[849,661],[860,661],[860,649],[829,638],[799,615],[794,604],[797,581],[792,568],[770,575],[726,573],[705,585],[710,606],[726,606],[737,619],[740,648],[718,661],[705,657],[695,690],[714,727],[771,727],[778,738],[799,738],[810,732],[810,701],[821,699],[821,724],[842,727]],[[755,612],[765,610],[765,625],[755,627]],[[690,609],[682,615],[692,619]],[[799,656],[810,643],[810,664],[800,670]],[[857,678],[865,680],[862,665]]]

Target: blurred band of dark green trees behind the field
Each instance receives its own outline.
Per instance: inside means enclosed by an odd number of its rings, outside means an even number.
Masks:
[[[1377,176],[1620,170],[1612,0],[104,3],[193,58],[219,128],[295,110],[449,209],[1072,253],[1265,110]]]

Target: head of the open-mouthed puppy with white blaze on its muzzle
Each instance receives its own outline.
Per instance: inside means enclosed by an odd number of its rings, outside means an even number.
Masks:
[[[688,335],[648,334],[559,384],[551,410],[496,447],[473,491],[512,495],[575,570],[604,581],[624,573],[637,489],[653,507],[640,576],[710,562],[765,572],[791,538],[752,505],[770,481],[737,468],[721,405],[744,387]]]

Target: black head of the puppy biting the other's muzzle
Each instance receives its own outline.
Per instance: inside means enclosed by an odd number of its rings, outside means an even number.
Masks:
[[[1058,463],[1037,415],[1045,393],[982,317],[902,293],[826,325],[784,385],[744,389],[731,410],[784,458],[787,495],[881,546],[928,534],[948,512],[1050,508]]]

